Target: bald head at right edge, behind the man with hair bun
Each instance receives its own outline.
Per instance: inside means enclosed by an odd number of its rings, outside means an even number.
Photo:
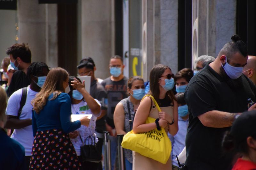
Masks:
[[[244,66],[244,75],[252,80],[256,84],[256,56],[249,55],[247,64]]]

